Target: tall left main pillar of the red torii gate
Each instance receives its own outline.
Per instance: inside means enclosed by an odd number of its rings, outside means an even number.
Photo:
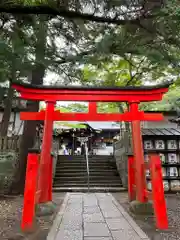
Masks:
[[[48,181],[49,181],[49,167],[51,158],[51,145],[52,145],[52,131],[53,131],[53,120],[51,116],[54,113],[54,102],[47,102],[47,107],[45,111],[45,121],[44,121],[44,134],[42,142],[41,151],[41,162],[40,162],[40,189],[41,195],[39,198],[40,203],[45,203],[48,200]]]

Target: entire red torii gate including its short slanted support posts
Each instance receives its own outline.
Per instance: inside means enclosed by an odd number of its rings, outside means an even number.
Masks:
[[[52,130],[53,121],[129,121],[132,128],[133,156],[129,156],[129,199],[145,203],[152,198],[156,225],[168,227],[159,155],[150,156],[147,166],[152,174],[152,193],[147,191],[145,162],[141,136],[141,121],[161,121],[160,113],[144,113],[141,102],[160,101],[169,85],[141,87],[74,87],[37,86],[13,83],[12,87],[26,100],[45,101],[46,109],[39,112],[21,112],[21,120],[43,120],[44,133],[41,153],[30,152],[26,170],[22,229],[32,228],[35,205],[52,201]],[[88,113],[61,113],[55,111],[56,101],[89,102]],[[129,110],[120,113],[98,113],[98,102],[128,102]]]

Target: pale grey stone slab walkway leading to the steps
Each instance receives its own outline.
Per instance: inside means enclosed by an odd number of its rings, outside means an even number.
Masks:
[[[67,193],[47,240],[149,240],[110,193]]]

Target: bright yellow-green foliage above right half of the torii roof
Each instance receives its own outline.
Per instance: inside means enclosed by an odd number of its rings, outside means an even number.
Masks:
[[[167,80],[165,66],[159,66],[145,56],[125,54],[124,58],[112,56],[101,61],[92,59],[81,71],[82,85],[96,86],[140,86]],[[161,67],[161,68],[160,68]],[[166,78],[166,79],[165,79]]]

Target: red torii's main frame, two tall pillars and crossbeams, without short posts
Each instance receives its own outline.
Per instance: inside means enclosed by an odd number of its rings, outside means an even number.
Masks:
[[[132,127],[132,144],[135,166],[136,199],[147,201],[146,180],[144,172],[144,153],[140,121],[161,121],[160,113],[144,113],[139,111],[140,102],[160,101],[168,91],[170,82],[157,86],[144,87],[74,87],[74,86],[37,86],[13,83],[12,87],[26,100],[46,102],[46,109],[40,112],[22,112],[21,120],[44,120],[43,143],[40,160],[39,203],[52,200],[49,194],[47,179],[50,174],[50,152],[52,142],[53,121],[130,121]],[[89,102],[88,113],[61,113],[55,111],[56,101]],[[119,113],[98,113],[97,102],[128,102],[129,111]],[[50,181],[50,180],[49,180]],[[52,190],[52,186],[50,187]]]

